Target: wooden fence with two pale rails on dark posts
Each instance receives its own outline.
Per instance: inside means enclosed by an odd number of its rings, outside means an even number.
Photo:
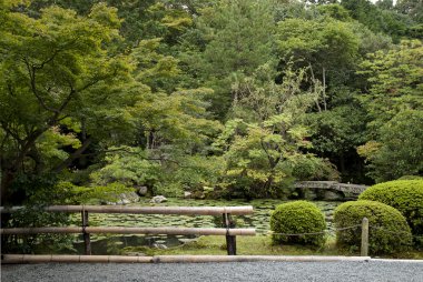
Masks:
[[[1,213],[12,213],[22,207],[3,208]],[[57,228],[11,228],[0,229],[1,235],[38,233],[82,233],[86,254],[91,254],[91,233],[112,234],[173,234],[173,235],[225,235],[228,255],[236,254],[237,235],[255,235],[255,229],[235,229],[232,215],[252,214],[253,207],[118,207],[118,205],[50,205],[42,208],[48,212],[81,213],[82,226]],[[179,215],[220,215],[222,229],[203,228],[120,228],[89,226],[89,213],[132,213],[132,214],[179,214]]]

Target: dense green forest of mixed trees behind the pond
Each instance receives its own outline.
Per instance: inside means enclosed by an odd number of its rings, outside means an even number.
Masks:
[[[6,0],[0,26],[2,204],[423,174],[421,0]]]

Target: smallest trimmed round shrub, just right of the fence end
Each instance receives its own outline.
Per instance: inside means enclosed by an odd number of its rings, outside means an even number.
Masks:
[[[274,243],[305,244],[322,246],[325,243],[324,231],[326,229],[325,216],[314,203],[295,201],[276,207],[270,216],[270,230]],[[304,235],[283,235],[303,234]]]

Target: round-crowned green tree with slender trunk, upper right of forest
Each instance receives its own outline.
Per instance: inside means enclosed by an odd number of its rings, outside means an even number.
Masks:
[[[285,61],[293,60],[296,68],[308,68],[312,79],[322,81],[322,97],[315,104],[318,111],[327,110],[328,81],[348,75],[357,57],[360,41],[352,24],[331,18],[289,19],[278,23],[276,38]]]

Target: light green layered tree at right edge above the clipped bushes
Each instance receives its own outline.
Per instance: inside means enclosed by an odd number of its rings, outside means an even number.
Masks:
[[[423,44],[403,41],[387,52],[370,54],[360,73],[367,77],[362,101],[368,111],[366,144],[358,153],[376,181],[421,174]]]

